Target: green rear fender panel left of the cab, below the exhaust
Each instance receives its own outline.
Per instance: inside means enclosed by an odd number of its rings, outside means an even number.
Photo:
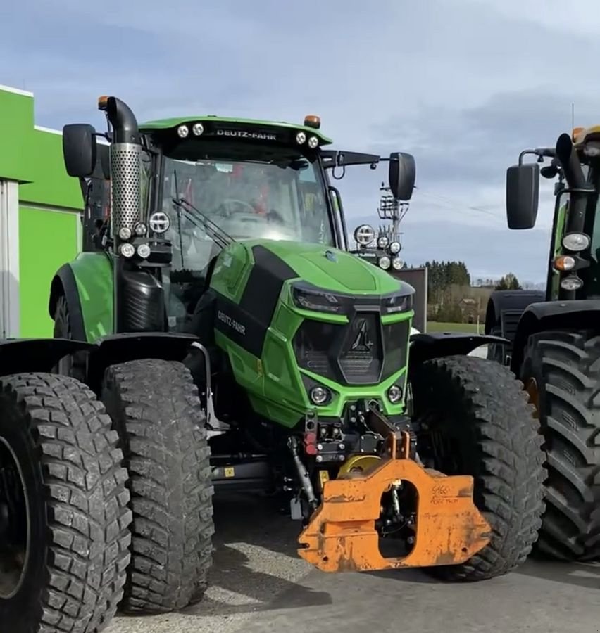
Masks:
[[[68,264],[75,276],[86,340],[113,333],[113,265],[104,252],[81,252]]]

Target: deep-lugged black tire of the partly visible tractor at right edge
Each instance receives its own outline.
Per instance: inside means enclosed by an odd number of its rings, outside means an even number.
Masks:
[[[546,513],[536,550],[565,561],[600,560],[600,336],[531,336],[520,378],[526,387],[531,378],[537,383],[547,457]]]

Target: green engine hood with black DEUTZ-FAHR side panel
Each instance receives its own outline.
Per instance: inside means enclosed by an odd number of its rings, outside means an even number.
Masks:
[[[297,283],[323,292],[320,297],[329,293],[346,298],[348,305],[362,297],[364,312],[358,306],[356,314],[354,307],[347,314],[301,307],[294,300]],[[257,414],[296,426],[315,409],[309,398],[315,386],[331,394],[329,402],[318,407],[322,417],[339,418],[346,403],[365,398],[382,402],[389,415],[402,413],[403,404],[390,403],[386,392],[394,384],[405,386],[413,311],[408,303],[400,312],[382,314],[380,305],[389,295],[411,299],[411,286],[342,250],[259,240],[223,250],[210,286],[216,297],[215,343],[227,354],[235,381]],[[354,371],[368,374],[369,365],[379,362],[377,353],[370,357],[369,345],[383,347],[384,354],[379,369],[370,370],[370,381],[357,376],[353,383],[340,378],[328,354],[330,347],[339,344],[346,350],[360,341],[361,326],[370,328],[365,335],[373,340],[366,340],[368,349],[350,354]],[[311,336],[311,351],[303,354],[301,338]],[[353,373],[346,371],[346,377]]]

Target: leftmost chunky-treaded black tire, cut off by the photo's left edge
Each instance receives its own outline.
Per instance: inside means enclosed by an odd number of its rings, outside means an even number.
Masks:
[[[123,596],[131,542],[127,471],[104,406],[73,378],[42,373],[0,378],[0,451],[0,470],[15,473],[19,488],[13,490],[25,490],[20,499],[27,499],[29,520],[25,515],[23,520],[30,526],[27,549],[26,527],[0,536],[0,629],[104,630]],[[0,485],[0,504],[15,499],[5,491]],[[10,583],[8,554],[12,563],[26,561],[23,574],[13,568]]]

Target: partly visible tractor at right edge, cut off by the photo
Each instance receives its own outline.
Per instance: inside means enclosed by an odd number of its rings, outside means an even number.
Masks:
[[[536,162],[524,162],[532,154]],[[537,219],[539,174],[558,177],[546,291],[492,293],[488,358],[510,366],[535,404],[546,452],[546,512],[537,549],[600,560],[600,127],[521,153],[506,179],[509,229]],[[539,162],[549,159],[540,169]]]

